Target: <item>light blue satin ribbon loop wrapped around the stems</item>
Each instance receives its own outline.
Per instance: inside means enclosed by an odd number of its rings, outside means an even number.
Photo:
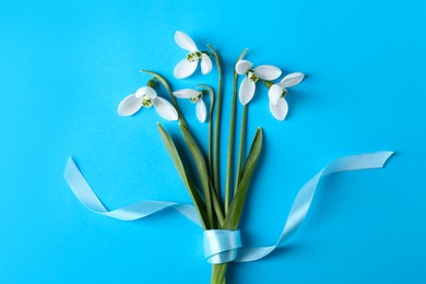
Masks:
[[[204,230],[204,255],[210,263],[218,264],[235,260],[240,247],[239,230]]]

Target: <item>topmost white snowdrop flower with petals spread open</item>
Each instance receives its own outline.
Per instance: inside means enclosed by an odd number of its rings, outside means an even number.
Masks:
[[[201,73],[208,74],[212,70],[212,60],[210,57],[201,52],[192,38],[187,34],[179,31],[176,32],[175,42],[179,47],[189,51],[187,57],[175,67],[174,74],[176,78],[184,79],[190,76],[196,71],[199,61],[201,61]]]

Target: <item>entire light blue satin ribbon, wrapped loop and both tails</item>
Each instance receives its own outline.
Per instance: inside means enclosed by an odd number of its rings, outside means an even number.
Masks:
[[[322,176],[348,170],[382,168],[392,154],[393,152],[386,151],[356,156],[346,156],[328,164],[298,191],[281,236],[274,246],[241,247],[239,230],[204,230],[204,253],[206,260],[211,263],[224,263],[230,261],[247,262],[267,257],[276,248],[282,246],[284,241],[300,226],[309,211],[317,185]],[[201,226],[197,210],[190,204],[165,201],[140,201],[121,209],[108,211],[88,186],[86,179],[71,157],[68,159],[63,176],[80,202],[95,213],[122,221],[133,221],[170,208]]]

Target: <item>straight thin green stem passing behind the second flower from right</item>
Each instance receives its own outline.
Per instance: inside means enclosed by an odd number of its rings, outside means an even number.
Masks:
[[[247,48],[242,50],[238,60],[240,60],[247,52]],[[238,61],[237,60],[237,61]],[[229,120],[229,141],[228,141],[228,153],[227,153],[227,173],[225,181],[225,215],[228,211],[230,203],[230,179],[233,177],[233,157],[234,157],[234,140],[235,140],[235,115],[237,109],[237,81],[238,74],[234,70],[234,88],[233,88],[233,103],[230,107],[230,120]]]

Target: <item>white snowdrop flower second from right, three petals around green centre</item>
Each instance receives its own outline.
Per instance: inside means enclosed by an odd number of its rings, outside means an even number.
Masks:
[[[274,66],[259,66],[251,69],[252,63],[247,60],[238,60],[235,71],[239,74],[246,74],[239,86],[239,100],[247,105],[255,95],[256,83],[259,80],[275,80],[281,75],[281,70]]]

